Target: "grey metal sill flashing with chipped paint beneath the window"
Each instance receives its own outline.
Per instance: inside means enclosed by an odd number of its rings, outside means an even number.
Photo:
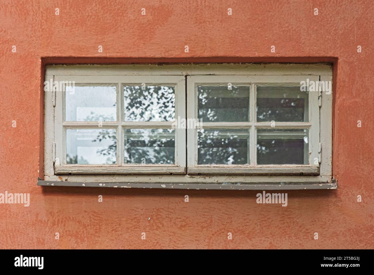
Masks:
[[[261,183],[99,183],[78,181],[51,181],[38,178],[39,186],[82,186],[82,187],[118,187],[118,188],[154,188],[154,189],[196,189],[196,190],[307,190],[337,189],[337,181],[331,182],[261,182]]]

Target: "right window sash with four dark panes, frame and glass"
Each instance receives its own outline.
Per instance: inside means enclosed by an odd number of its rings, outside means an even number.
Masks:
[[[187,173],[318,175],[315,75],[187,76]]]

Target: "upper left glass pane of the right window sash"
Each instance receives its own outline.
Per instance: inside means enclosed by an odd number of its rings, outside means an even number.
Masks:
[[[197,86],[199,119],[202,122],[248,122],[249,89],[250,86]]]

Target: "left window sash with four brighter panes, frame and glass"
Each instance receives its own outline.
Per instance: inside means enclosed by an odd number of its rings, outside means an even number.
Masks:
[[[175,119],[186,118],[184,76],[54,76],[54,81],[55,83],[74,82],[76,87],[72,91],[71,88],[65,88],[62,85],[62,91],[55,92],[54,172],[56,175],[186,173],[186,130],[175,128],[177,123],[174,123]],[[81,87],[111,88],[101,89],[105,96],[100,94],[96,96],[96,101],[99,101],[99,104],[97,104],[98,102],[91,104],[96,107],[90,108],[90,104],[84,104],[84,100],[94,100],[93,94],[86,94],[86,96],[80,97],[79,100],[83,103],[80,102],[80,107],[77,108],[79,103],[74,101],[74,94],[82,89]],[[124,92],[125,87],[131,87],[130,93],[127,90]],[[150,106],[148,115],[144,114],[144,110],[140,110],[139,99],[135,100],[134,108],[131,108],[133,113],[139,111],[138,114],[132,118],[125,115],[126,107],[124,106],[129,104],[127,100],[129,95],[141,94],[143,90],[146,90],[144,93],[150,97],[158,91],[159,95],[153,97],[153,100],[156,100],[157,103],[157,99],[165,97],[164,106],[170,106],[168,101],[171,98],[165,96],[165,87],[173,87],[174,89],[174,118],[170,114],[166,119],[160,118],[157,104]],[[161,91],[162,89],[163,91]],[[95,89],[91,88],[90,90],[92,92]],[[100,91],[100,88],[96,90]],[[105,92],[105,90],[108,91]],[[112,106],[114,97],[115,106]],[[75,104],[74,107],[71,107],[71,104]],[[153,114],[158,119],[153,119]],[[171,142],[172,137],[174,137],[174,144]],[[79,139],[80,154],[77,154],[77,146],[71,148],[67,138],[70,140]],[[130,143],[131,147],[127,141],[132,141],[132,138],[136,140]],[[92,141],[95,143],[94,146],[92,146]],[[127,144],[125,144],[126,142]],[[168,148],[160,149],[160,144],[168,146]],[[172,148],[173,145],[174,148]],[[91,146],[92,148],[89,148]],[[170,156],[173,149],[174,161]],[[95,155],[95,150],[97,150],[96,153],[101,152],[104,155]],[[169,158],[157,159],[154,157],[157,156],[157,150],[165,150],[168,152]],[[76,155],[71,154],[74,155],[72,157],[68,154],[69,152],[74,152]],[[132,157],[129,157],[131,153]],[[141,153],[144,153],[146,157],[141,158]],[[80,158],[84,154],[86,156],[91,154],[89,161]]]

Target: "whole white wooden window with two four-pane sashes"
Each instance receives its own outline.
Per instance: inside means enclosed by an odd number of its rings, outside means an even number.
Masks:
[[[47,66],[45,184],[328,188],[332,93],[301,83],[331,74],[322,64]]]

